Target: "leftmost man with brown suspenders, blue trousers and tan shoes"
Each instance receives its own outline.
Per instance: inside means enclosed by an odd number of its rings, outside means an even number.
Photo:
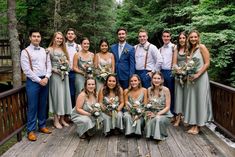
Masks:
[[[40,47],[41,34],[38,30],[29,33],[30,45],[21,52],[21,67],[27,77],[26,94],[27,133],[30,141],[36,141],[36,124],[39,131],[50,134],[46,128],[48,80],[51,76],[51,61],[49,54]]]

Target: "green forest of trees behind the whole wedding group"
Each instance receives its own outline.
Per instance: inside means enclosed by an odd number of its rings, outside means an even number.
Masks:
[[[7,10],[7,1],[0,0],[0,39],[8,38]],[[31,28],[40,28],[47,47],[55,31],[73,27],[78,43],[83,36],[90,38],[93,52],[104,37],[110,44],[117,42],[120,26],[127,28],[132,45],[145,28],[158,48],[164,29],[172,32],[174,43],[180,32],[197,29],[211,54],[210,79],[235,87],[234,0],[16,0],[16,19],[21,48],[29,43]]]

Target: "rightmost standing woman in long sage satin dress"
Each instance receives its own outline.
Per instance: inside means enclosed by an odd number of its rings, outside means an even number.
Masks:
[[[188,130],[190,134],[198,134],[200,126],[204,126],[207,122],[213,120],[212,103],[210,94],[210,82],[207,69],[210,65],[210,53],[205,45],[200,44],[199,32],[193,30],[189,33],[189,60],[193,58],[199,59],[197,72],[190,81],[194,83],[186,86],[184,96],[184,122],[192,127]]]

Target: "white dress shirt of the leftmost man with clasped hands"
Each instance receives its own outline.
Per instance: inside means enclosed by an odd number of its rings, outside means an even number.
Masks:
[[[46,53],[42,47],[39,50],[35,50],[35,46],[30,44],[26,49],[29,52],[29,56],[32,62],[32,68],[30,67],[29,57],[25,50],[21,52],[21,67],[25,75],[33,82],[39,83],[41,81],[40,76],[50,78],[51,76],[51,60],[50,55]]]

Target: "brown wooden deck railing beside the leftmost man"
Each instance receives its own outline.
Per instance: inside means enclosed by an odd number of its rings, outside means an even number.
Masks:
[[[17,140],[21,140],[21,131],[26,124],[26,106],[25,86],[0,93],[0,145],[16,134]]]

